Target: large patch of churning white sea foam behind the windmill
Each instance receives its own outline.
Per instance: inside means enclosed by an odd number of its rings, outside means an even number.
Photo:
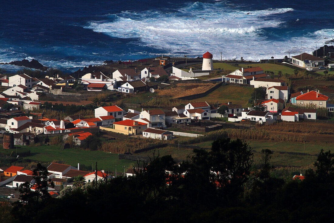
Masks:
[[[116,38],[137,38],[144,46],[171,54],[187,52],[195,56],[209,50],[219,58],[223,52],[226,58],[259,59],[277,49],[273,45],[263,46],[267,40],[259,33],[263,28],[278,27],[283,22],[268,16],[293,11],[269,8],[247,14],[247,11],[222,8],[222,2],[216,4],[195,2],[174,13],[123,11],[108,15],[112,22],[95,21],[86,28]]]

